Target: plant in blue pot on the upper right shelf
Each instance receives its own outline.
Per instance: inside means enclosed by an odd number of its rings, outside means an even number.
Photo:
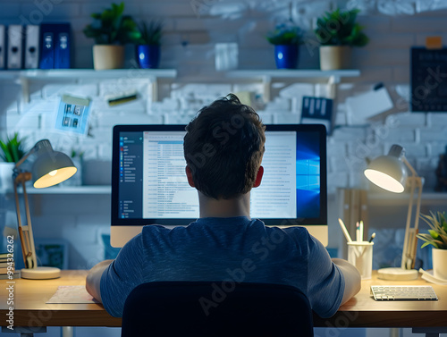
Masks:
[[[296,69],[299,45],[303,43],[302,30],[293,23],[282,23],[266,36],[274,45],[274,60],[278,69]]]

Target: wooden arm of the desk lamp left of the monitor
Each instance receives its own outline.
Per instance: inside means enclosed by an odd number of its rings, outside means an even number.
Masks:
[[[23,254],[23,261],[25,262],[25,267],[28,269],[35,268],[38,266],[36,258],[36,249],[34,247],[34,237],[32,234],[32,227],[31,227],[30,204],[28,202],[28,194],[25,187],[25,182],[30,180],[31,180],[31,173],[29,172],[18,173],[14,177],[14,197],[15,197],[15,207],[17,213],[17,223],[19,227],[19,236],[21,239],[21,252]],[[23,188],[23,198],[25,202],[25,212],[27,217],[26,225],[22,225],[21,223],[21,209],[20,209],[19,193],[17,191],[17,186],[19,184],[21,184]]]

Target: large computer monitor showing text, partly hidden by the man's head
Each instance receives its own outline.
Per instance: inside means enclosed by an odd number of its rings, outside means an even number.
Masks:
[[[198,218],[198,192],[185,173],[185,132],[184,125],[114,126],[112,246],[122,247],[144,225],[187,225]],[[250,216],[266,225],[306,226],[326,246],[325,127],[266,125],[262,165]]]

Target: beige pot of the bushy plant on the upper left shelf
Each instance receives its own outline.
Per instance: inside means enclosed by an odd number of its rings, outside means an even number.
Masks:
[[[124,46],[93,46],[93,66],[97,71],[122,69],[124,67]]]

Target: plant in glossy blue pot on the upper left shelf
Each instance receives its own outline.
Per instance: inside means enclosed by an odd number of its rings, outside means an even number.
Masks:
[[[137,39],[137,55],[140,68],[158,68],[160,63],[160,46],[163,33],[161,21],[139,24],[141,37]]]

